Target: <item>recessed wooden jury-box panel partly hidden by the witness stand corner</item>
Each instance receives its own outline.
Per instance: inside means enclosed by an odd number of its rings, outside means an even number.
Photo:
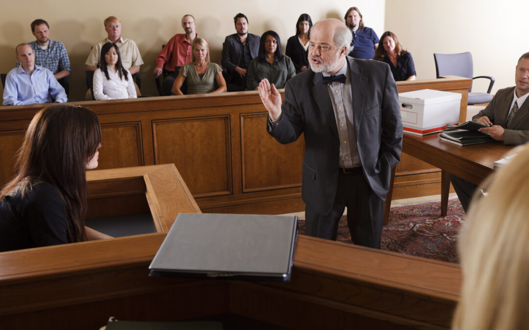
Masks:
[[[174,163],[195,197],[231,189],[230,117],[153,120],[156,164]]]

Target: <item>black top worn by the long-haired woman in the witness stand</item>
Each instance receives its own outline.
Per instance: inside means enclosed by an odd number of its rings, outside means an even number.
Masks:
[[[68,243],[64,205],[57,188],[33,185],[0,201],[0,251]]]

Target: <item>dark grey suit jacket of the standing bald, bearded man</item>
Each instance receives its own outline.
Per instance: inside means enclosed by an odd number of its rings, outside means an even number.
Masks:
[[[386,199],[391,168],[400,161],[402,120],[389,65],[346,58],[352,86],[354,133],[363,174]],[[322,74],[305,70],[287,81],[282,116],[269,133],[282,144],[305,136],[302,197],[318,214],[331,211],[338,186],[338,127]]]

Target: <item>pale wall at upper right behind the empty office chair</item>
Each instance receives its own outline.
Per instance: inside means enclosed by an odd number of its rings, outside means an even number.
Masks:
[[[514,86],[516,62],[529,51],[528,10],[521,0],[387,0],[385,29],[412,53],[417,79],[435,78],[433,53],[470,51],[474,76],[496,78],[494,93]],[[488,80],[478,80],[473,91],[486,91]]]

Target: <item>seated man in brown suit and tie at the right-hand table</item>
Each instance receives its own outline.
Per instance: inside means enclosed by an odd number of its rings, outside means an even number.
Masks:
[[[479,131],[507,145],[529,142],[529,52],[518,59],[515,82],[514,87],[498,90],[487,107],[472,117],[473,121],[487,126]],[[450,181],[467,212],[477,186],[453,174]]]

